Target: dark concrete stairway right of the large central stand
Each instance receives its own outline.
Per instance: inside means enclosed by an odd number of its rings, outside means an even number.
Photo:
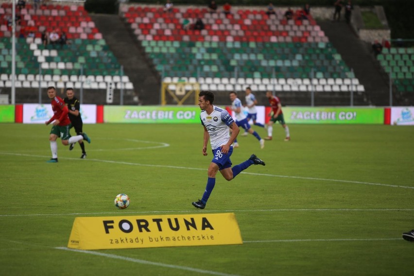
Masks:
[[[360,40],[346,22],[318,21],[318,24],[365,87],[365,93],[356,95],[355,105],[388,105],[387,76],[371,52],[371,45]]]

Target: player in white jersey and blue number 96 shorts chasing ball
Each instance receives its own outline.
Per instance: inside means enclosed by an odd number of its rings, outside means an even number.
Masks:
[[[263,166],[266,164],[253,154],[249,159],[232,168],[230,155],[233,153],[233,147],[231,145],[239,134],[240,129],[227,110],[213,105],[214,94],[212,92],[201,91],[198,96],[198,105],[202,110],[200,120],[204,127],[202,153],[204,156],[207,155],[208,140],[210,140],[213,152],[213,158],[207,171],[206,190],[201,199],[192,203],[194,207],[204,209],[216,184],[216,174],[218,171],[226,180],[230,181],[253,164]],[[229,135],[230,129],[232,130],[231,135]]]

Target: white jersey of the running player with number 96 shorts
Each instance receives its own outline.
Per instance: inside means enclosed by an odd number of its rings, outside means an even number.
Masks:
[[[234,122],[227,110],[213,105],[211,114],[207,114],[206,110],[201,111],[200,120],[210,135],[211,149],[227,144],[230,139],[228,126]]]

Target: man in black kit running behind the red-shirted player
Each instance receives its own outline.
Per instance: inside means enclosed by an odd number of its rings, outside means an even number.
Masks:
[[[82,118],[81,113],[79,112],[81,104],[79,103],[79,100],[74,96],[73,88],[66,88],[66,98],[63,99],[66,105],[68,105],[69,109],[69,119],[72,124],[72,127],[75,128],[75,132],[77,135],[82,135]],[[79,145],[82,148],[82,156],[81,158],[86,158],[86,151],[85,151],[85,143],[81,140],[79,141]],[[70,144],[69,151],[73,149],[75,144]]]

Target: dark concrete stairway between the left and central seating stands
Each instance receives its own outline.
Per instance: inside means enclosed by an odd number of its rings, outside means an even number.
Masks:
[[[134,95],[126,95],[124,104],[132,104],[127,97],[134,98],[137,104],[160,103],[160,80],[154,66],[147,61],[135,36],[118,15],[90,14],[106,43],[123,65],[124,74],[134,84]],[[132,97],[131,97],[132,96]]]

